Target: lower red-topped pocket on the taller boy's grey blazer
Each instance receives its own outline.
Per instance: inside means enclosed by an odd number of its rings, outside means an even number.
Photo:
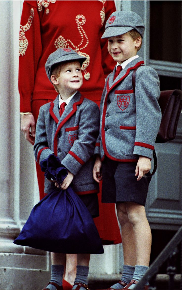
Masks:
[[[131,156],[134,151],[136,126],[120,126],[120,151],[122,154]]]

